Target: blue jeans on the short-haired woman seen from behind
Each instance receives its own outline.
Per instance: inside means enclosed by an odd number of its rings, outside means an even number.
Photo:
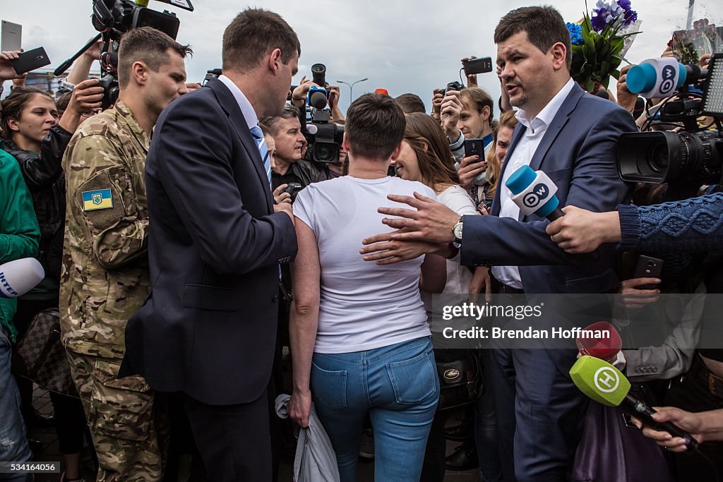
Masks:
[[[417,482],[440,382],[429,337],[354,353],[314,353],[317,414],[342,482],[356,482],[364,417],[374,428],[375,480]]]

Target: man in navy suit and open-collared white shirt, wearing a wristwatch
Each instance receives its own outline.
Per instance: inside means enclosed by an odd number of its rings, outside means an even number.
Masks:
[[[416,212],[382,208],[405,233],[365,241],[369,260],[398,262],[410,251],[447,257],[461,248],[461,263],[492,266],[502,293],[603,293],[617,286],[612,249],[599,257],[566,254],[545,233],[547,220],[526,216],[505,181],[521,165],[542,170],[558,187],[562,205],[607,211],[623,202],[628,186],[615,165],[617,140],[636,131],[630,113],[588,95],[570,78],[570,34],[552,7],[523,7],[495,29],[497,65],[519,121],[500,173],[490,216],[460,218],[424,197],[395,197]],[[580,204],[578,204],[580,203]],[[392,241],[388,241],[392,239]],[[426,241],[417,249],[405,240]],[[549,320],[548,320],[549,321]],[[565,481],[579,442],[586,400],[570,380],[574,349],[500,349],[489,363],[505,481]]]

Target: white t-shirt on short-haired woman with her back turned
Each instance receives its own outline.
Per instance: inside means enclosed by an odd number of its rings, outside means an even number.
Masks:
[[[406,207],[387,194],[436,199],[419,182],[386,176],[343,176],[310,184],[294,201],[294,215],[314,231],[319,246],[321,289],[314,351],[350,353],[429,336],[427,313],[419,297],[424,258],[380,266],[364,261],[361,240],[393,231],[377,208]]]

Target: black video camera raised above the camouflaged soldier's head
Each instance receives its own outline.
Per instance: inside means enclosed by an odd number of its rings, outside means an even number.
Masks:
[[[190,0],[159,0],[193,12]],[[103,53],[100,54],[100,87],[105,89],[102,108],[118,100],[118,48],[121,36],[136,27],[153,27],[176,39],[180,22],[176,14],[164,10],[157,12],[142,6],[143,0],[93,0],[91,21],[95,30],[103,34]],[[147,0],[144,2],[147,4]]]

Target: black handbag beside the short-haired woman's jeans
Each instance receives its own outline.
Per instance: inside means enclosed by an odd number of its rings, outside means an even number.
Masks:
[[[484,375],[476,350],[435,350],[440,377],[437,410],[458,408],[477,400],[484,392]]]

